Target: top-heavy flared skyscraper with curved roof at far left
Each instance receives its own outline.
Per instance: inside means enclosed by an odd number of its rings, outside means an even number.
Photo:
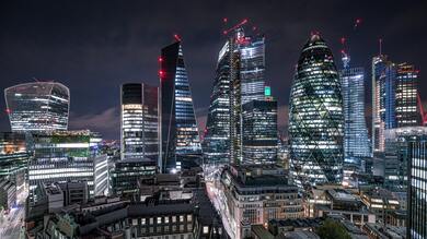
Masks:
[[[70,91],[57,82],[32,82],[4,89],[12,132],[68,129]]]

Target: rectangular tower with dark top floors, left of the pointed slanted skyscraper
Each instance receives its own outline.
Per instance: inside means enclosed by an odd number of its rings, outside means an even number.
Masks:
[[[122,159],[159,155],[158,87],[140,83],[123,84]]]

